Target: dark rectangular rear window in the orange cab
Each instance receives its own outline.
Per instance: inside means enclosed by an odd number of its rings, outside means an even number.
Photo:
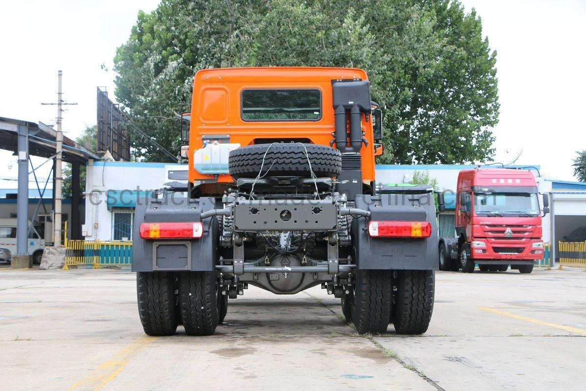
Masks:
[[[242,91],[244,121],[317,121],[322,117],[322,94],[317,89]]]

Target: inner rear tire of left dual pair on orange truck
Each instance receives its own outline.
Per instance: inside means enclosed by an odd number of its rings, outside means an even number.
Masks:
[[[214,271],[183,271],[179,277],[179,306],[188,335],[212,335],[219,321]]]

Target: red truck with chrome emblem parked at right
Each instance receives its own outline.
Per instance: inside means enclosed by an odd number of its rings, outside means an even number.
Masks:
[[[549,212],[543,195],[543,215],[537,183],[526,169],[474,168],[458,174],[455,196],[455,236],[440,237],[440,270],[472,273],[517,269],[531,273],[543,257],[541,217]],[[444,194],[440,194],[440,211]],[[440,222],[441,224],[441,222]]]

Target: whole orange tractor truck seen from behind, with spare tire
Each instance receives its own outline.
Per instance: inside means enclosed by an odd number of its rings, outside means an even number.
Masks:
[[[427,331],[437,231],[429,186],[380,193],[381,111],[360,69],[196,73],[183,116],[189,188],[135,213],[145,333],[213,334],[248,285],[321,285],[360,333]],[[387,189],[388,190],[388,189]]]

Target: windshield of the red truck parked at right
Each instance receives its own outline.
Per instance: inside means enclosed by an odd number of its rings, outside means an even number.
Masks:
[[[536,193],[475,193],[474,212],[482,216],[539,216],[539,202]]]

